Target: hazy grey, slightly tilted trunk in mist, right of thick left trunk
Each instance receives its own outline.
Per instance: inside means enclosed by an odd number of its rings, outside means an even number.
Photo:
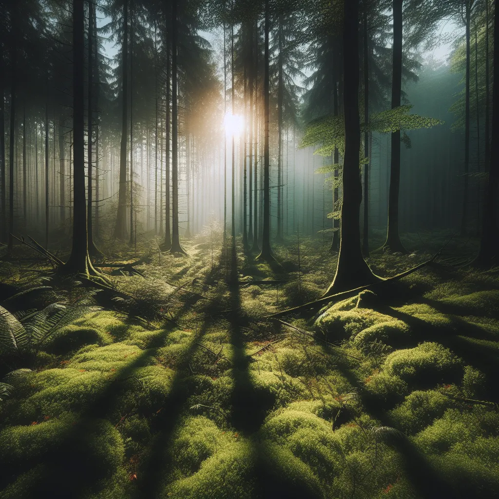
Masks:
[[[123,45],[121,61],[121,143],[120,143],[120,173],[118,190],[118,213],[114,237],[126,239],[128,236],[126,228],[126,156],[127,156],[127,120],[128,120],[128,0],[123,0]]]

